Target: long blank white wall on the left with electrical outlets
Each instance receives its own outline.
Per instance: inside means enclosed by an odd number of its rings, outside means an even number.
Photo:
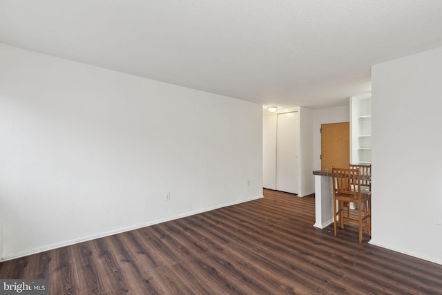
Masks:
[[[0,44],[2,257],[259,198],[261,146],[258,104]]]

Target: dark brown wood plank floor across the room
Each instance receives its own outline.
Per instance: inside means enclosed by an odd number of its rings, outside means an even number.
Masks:
[[[442,294],[442,265],[316,229],[314,198],[265,198],[0,263],[49,294]],[[367,236],[365,236],[367,238]]]

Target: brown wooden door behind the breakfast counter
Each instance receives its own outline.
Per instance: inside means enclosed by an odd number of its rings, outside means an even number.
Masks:
[[[320,168],[332,166],[348,168],[350,162],[350,124],[349,122],[321,124]]]

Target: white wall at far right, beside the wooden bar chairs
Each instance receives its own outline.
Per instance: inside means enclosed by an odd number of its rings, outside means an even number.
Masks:
[[[442,264],[442,48],[372,67],[372,244]]]

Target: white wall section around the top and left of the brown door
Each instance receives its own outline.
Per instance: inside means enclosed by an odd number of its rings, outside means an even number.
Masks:
[[[329,123],[349,122],[350,108],[347,106],[336,106],[334,108],[321,108],[314,110],[314,170],[320,170],[320,125]]]

